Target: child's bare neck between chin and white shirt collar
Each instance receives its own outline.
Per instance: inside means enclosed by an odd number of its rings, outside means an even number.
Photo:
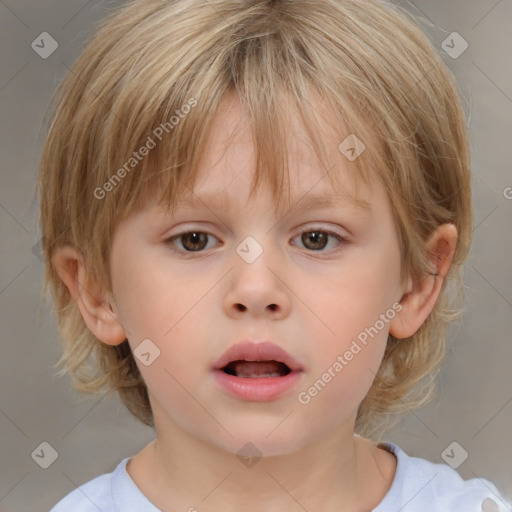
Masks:
[[[382,451],[351,429],[333,430],[293,453],[244,463],[176,424],[168,427],[157,427],[157,439],[128,467],[143,494],[164,512],[368,511],[391,485],[382,456],[376,456]]]

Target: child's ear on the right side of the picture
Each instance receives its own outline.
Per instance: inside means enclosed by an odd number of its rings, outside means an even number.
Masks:
[[[430,236],[427,250],[431,255],[432,272],[425,274],[418,283],[409,280],[406,293],[400,300],[402,309],[390,323],[392,336],[409,338],[423,325],[436,305],[456,247],[457,228],[453,224],[442,224]]]

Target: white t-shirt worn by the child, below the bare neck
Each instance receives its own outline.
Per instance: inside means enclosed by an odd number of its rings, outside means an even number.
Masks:
[[[463,480],[446,464],[411,457],[394,443],[379,446],[394,453],[398,462],[391,488],[371,512],[512,512],[511,504],[488,480]],[[50,512],[161,512],[126,471],[129,460],[79,486]]]

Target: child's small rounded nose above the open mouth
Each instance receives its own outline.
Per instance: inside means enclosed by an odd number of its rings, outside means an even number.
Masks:
[[[290,311],[290,289],[282,265],[270,261],[266,252],[252,263],[235,255],[229,288],[224,297],[225,313],[232,317],[284,318]],[[238,260],[237,260],[238,258]]]

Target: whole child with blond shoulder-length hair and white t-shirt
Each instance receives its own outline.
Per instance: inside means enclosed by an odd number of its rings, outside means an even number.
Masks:
[[[403,10],[130,2],[39,187],[59,363],[156,433],[52,512],[511,510],[382,442],[431,399],[473,222],[457,89]]]

